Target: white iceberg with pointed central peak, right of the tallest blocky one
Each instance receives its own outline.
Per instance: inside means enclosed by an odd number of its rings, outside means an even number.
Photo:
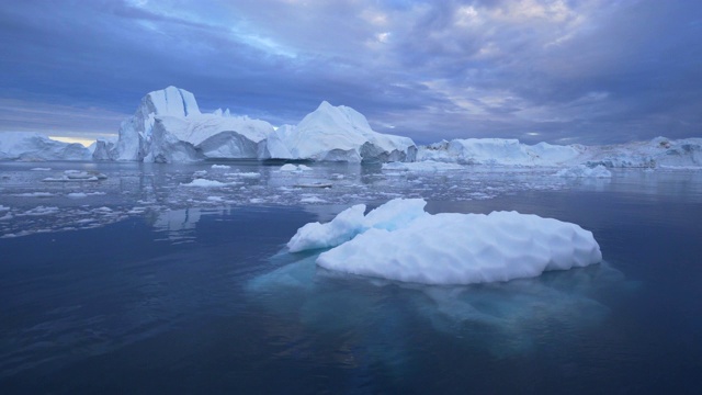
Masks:
[[[280,127],[268,144],[273,159],[386,162],[414,161],[416,154],[409,137],[374,132],[358,111],[326,101],[297,126]]]

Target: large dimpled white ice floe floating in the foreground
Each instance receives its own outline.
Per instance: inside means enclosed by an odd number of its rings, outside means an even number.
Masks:
[[[592,233],[575,224],[517,212],[430,215],[424,204],[396,199],[365,216],[356,205],[328,224],[303,226],[287,247],[333,247],[317,264],[423,284],[509,281],[602,260]]]

